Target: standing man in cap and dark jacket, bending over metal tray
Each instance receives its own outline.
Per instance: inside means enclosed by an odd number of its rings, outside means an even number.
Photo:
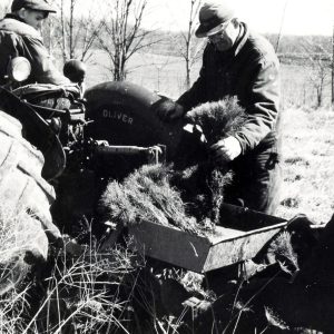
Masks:
[[[199,23],[196,37],[208,39],[199,78],[164,117],[173,120],[199,104],[236,96],[246,122],[235,136],[210,147],[214,160],[229,163],[235,171],[225,202],[273,214],[278,204],[278,59],[271,43],[250,32],[226,0],[206,1]]]

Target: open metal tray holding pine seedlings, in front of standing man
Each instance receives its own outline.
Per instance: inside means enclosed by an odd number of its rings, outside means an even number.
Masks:
[[[129,227],[132,247],[145,256],[206,273],[253,258],[287,222],[233,205],[222,206],[222,225],[203,237],[143,220]]]

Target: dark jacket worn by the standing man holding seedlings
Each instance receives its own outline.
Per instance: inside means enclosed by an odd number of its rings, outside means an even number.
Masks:
[[[236,132],[243,154],[275,140],[279,100],[279,63],[272,45],[240,23],[240,37],[232,50],[219,52],[210,43],[203,55],[199,78],[178,102],[186,110],[226,96],[237,96],[247,120]]]

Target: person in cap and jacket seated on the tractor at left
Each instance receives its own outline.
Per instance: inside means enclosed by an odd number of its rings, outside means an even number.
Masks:
[[[13,0],[11,13],[0,21],[0,85],[6,84],[10,59],[26,57],[31,75],[24,84],[69,84],[55,67],[40,35],[42,21],[56,10],[45,0]]]

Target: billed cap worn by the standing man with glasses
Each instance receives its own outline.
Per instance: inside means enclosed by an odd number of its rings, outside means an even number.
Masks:
[[[226,0],[205,1],[199,10],[199,27],[196,37],[207,37],[220,30],[222,23],[235,17],[233,7]]]

